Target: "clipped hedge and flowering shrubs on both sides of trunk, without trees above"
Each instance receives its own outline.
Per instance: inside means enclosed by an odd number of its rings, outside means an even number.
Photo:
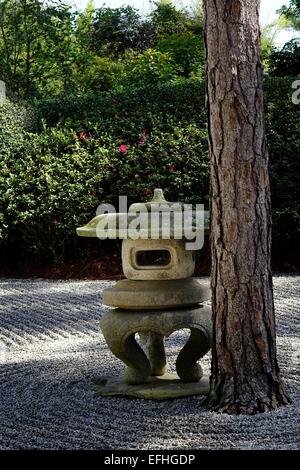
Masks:
[[[299,109],[290,100],[290,80],[269,79],[266,92],[274,246],[296,250]],[[7,102],[0,120],[14,122],[20,106]],[[131,203],[162,187],[170,200],[208,207],[203,82],[183,78],[127,93],[38,101],[35,119],[22,109],[0,146],[2,250],[48,262],[75,255],[76,227],[120,194]]]

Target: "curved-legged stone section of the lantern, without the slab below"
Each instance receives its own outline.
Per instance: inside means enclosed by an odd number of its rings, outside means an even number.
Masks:
[[[178,310],[130,312],[107,309],[100,324],[111,352],[126,364],[128,385],[144,385],[151,376],[162,377],[166,369],[164,337],[184,328],[191,334],[179,351],[176,372],[182,382],[197,383],[203,376],[198,364],[211,348],[211,309],[200,305]],[[136,340],[138,333],[141,345]]]

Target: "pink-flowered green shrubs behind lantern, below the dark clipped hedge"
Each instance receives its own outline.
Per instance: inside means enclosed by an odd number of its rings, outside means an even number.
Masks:
[[[153,128],[145,141],[128,143],[126,153],[119,140],[97,129],[93,136],[80,140],[46,129],[28,135],[13,162],[4,160],[1,222],[23,252],[49,262],[71,254],[75,228],[93,217],[100,201],[117,203],[119,194],[133,202],[163,186],[170,199],[193,200],[207,188],[206,134],[195,125],[172,133]]]

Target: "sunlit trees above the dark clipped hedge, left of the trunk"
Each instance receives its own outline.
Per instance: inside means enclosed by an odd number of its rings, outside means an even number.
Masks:
[[[199,15],[171,3],[141,17],[130,6],[75,12],[61,0],[0,0],[0,79],[10,95],[42,98],[125,89],[144,71],[149,81],[199,76],[202,29]]]

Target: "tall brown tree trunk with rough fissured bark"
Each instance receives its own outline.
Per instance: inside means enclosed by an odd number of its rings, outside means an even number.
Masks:
[[[259,0],[205,0],[214,346],[208,406],[288,403],[276,359]]]

